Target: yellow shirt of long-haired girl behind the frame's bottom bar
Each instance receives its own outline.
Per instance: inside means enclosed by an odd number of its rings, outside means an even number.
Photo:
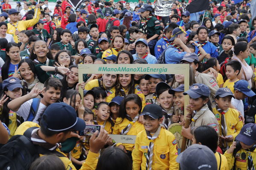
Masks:
[[[113,128],[113,134],[114,135],[119,135],[122,130],[127,127],[127,125],[130,124],[130,121],[127,118],[124,118],[124,120],[122,121],[122,118],[117,118],[116,122],[115,122],[115,126]],[[136,121],[131,129],[129,130],[129,132],[127,133],[127,135],[137,135],[139,132],[141,132],[142,130],[144,130],[144,126],[143,124],[141,124],[140,122]],[[116,144],[117,146],[121,145],[121,143]],[[134,148],[134,144],[122,144],[124,145],[126,150],[132,151]]]

